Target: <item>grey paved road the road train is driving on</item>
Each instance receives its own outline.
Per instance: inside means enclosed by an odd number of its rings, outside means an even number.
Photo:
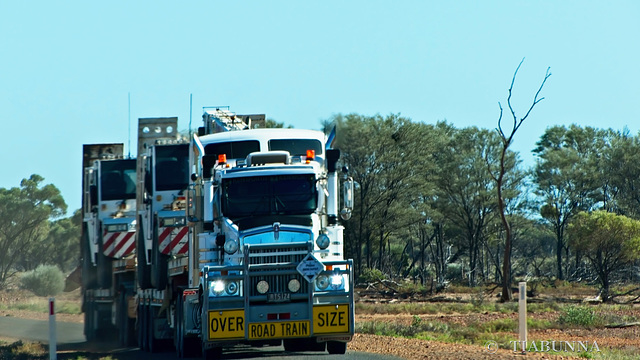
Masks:
[[[63,351],[65,359],[76,359],[82,356],[88,359],[100,358],[102,356],[112,356],[118,360],[173,360],[177,359],[175,352],[167,349],[166,352],[149,354],[141,352],[138,348],[118,348],[111,343],[91,343],[85,341],[83,334],[83,324],[68,323],[58,321],[57,348]],[[49,321],[31,320],[14,317],[0,318],[0,337],[20,339],[24,341],[39,341],[49,343]],[[400,358],[363,352],[347,350],[346,355],[328,355],[319,352],[299,352],[287,353],[282,346],[273,347],[235,347],[225,349],[223,359],[261,359],[269,360],[291,360],[291,359],[313,359],[313,360],[398,360]]]

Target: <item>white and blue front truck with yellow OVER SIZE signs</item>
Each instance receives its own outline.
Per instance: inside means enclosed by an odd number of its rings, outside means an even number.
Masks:
[[[188,284],[173,295],[176,350],[217,358],[244,343],[343,354],[354,283],[340,219],[350,217],[353,180],[324,133],[251,120],[205,109],[191,140],[192,251]]]

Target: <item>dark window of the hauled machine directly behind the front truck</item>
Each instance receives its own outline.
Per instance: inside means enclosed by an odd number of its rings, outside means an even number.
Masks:
[[[189,145],[156,147],[156,190],[183,190],[189,184]]]

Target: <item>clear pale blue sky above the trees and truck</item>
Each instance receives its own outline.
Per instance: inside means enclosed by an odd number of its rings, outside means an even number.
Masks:
[[[203,106],[319,129],[335,113],[495,128],[545,97],[546,128],[640,125],[640,1],[2,1],[0,187],[36,173],[81,205],[82,144],[131,143],[140,117]],[[128,94],[131,94],[129,126]],[[131,140],[129,135],[131,134]]]

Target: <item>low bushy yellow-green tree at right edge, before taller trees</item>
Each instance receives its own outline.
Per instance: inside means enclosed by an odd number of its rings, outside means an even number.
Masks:
[[[595,270],[603,301],[618,271],[640,259],[640,221],[606,211],[581,212],[569,225],[569,242]]]

